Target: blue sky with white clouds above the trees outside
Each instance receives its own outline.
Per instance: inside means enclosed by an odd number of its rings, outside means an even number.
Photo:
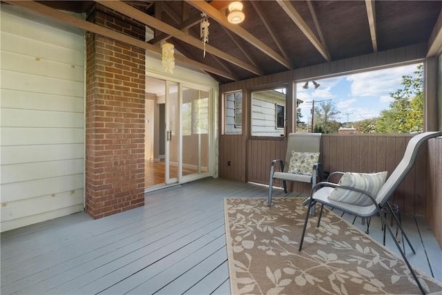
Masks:
[[[397,68],[387,68],[366,73],[333,77],[328,79],[317,79],[319,88],[314,88],[309,82],[307,90],[302,89],[305,82],[296,84],[296,97],[304,102],[299,105],[301,108],[302,122],[311,122],[311,102],[315,101],[315,106],[320,101],[332,99],[336,108],[340,112],[337,117],[338,122],[360,121],[378,117],[382,110],[390,108],[392,98],[390,93],[403,88],[402,76],[412,75],[416,71],[418,64],[401,66]],[[348,114],[348,115],[345,115]]]

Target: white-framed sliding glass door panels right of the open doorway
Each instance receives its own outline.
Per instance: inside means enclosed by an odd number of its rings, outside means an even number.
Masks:
[[[166,184],[209,175],[209,91],[166,82]]]

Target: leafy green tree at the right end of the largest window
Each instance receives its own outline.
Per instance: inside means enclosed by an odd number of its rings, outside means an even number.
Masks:
[[[390,109],[381,111],[376,122],[377,133],[409,133],[423,129],[423,65],[417,66],[415,76],[402,76],[402,89],[390,93],[394,101]]]

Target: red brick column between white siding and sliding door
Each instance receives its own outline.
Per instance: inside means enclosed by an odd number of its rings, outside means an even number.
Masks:
[[[144,40],[144,26],[97,4],[88,17]],[[86,212],[144,205],[144,50],[86,33]]]

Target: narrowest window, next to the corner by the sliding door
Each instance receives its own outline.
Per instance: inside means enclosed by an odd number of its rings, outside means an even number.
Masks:
[[[224,94],[225,132],[242,133],[242,92]]]

